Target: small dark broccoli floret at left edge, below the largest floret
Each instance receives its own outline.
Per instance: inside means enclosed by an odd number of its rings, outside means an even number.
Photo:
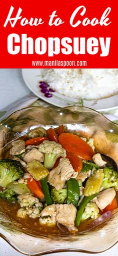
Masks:
[[[0,192],[0,197],[14,202],[16,200],[17,194],[11,188],[8,188]]]

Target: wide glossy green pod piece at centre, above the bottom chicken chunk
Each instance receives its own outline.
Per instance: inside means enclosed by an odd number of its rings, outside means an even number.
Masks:
[[[75,207],[77,207],[77,203],[79,200],[79,185],[76,179],[70,178],[66,181],[67,186],[67,200],[66,203],[72,203]]]

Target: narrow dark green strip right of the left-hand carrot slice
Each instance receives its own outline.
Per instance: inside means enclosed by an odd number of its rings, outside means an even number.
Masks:
[[[49,193],[49,188],[48,188],[48,184],[47,184],[47,179],[46,177],[44,179],[41,179],[41,187],[42,187],[42,191],[44,193],[44,197],[45,197],[45,202],[47,205],[52,204],[52,200],[51,200],[51,196]]]

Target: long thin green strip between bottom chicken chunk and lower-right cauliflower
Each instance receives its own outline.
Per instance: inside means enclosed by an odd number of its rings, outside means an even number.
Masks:
[[[80,220],[84,211],[85,206],[87,205],[87,203],[92,200],[97,194],[94,195],[90,195],[90,196],[84,196],[84,198],[82,199],[79,208],[77,210],[77,214],[76,214],[76,218],[75,218],[75,225],[79,226],[80,224]]]

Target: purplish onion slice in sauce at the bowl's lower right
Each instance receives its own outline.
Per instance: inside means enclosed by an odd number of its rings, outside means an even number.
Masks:
[[[91,221],[89,223],[89,225],[87,225],[85,228],[83,228],[79,233],[83,233],[83,232],[86,232],[86,231],[89,231],[91,230],[92,228],[100,225],[100,224],[103,224],[104,222],[106,222],[107,220],[113,218],[113,214],[111,211],[106,211],[104,212],[100,217],[94,219],[93,221]]]

